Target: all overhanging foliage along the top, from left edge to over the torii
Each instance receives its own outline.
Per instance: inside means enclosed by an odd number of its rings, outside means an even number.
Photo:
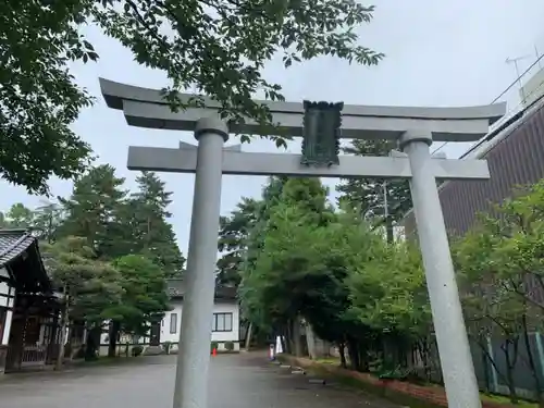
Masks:
[[[98,25],[144,65],[170,78],[174,109],[180,90],[217,99],[235,121],[273,125],[257,92],[282,100],[280,85],[263,77],[267,61],[284,65],[333,55],[366,65],[382,54],[358,44],[357,29],[373,7],[355,0],[3,0],[0,16],[0,172],[30,193],[48,193],[50,176],[73,178],[90,162],[90,147],[70,125],[92,98],[75,83],[71,61],[99,57],[82,35]],[[191,104],[199,104],[196,98]],[[270,135],[280,131],[270,131]],[[280,136],[271,136],[284,145]],[[249,137],[244,136],[243,141]]]

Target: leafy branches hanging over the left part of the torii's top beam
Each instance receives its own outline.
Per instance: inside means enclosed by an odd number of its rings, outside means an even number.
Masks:
[[[183,106],[178,90],[196,88],[215,98],[223,114],[236,121],[252,118],[272,124],[268,108],[251,97],[261,91],[267,99],[283,100],[281,86],[262,76],[265,63],[277,53],[286,67],[320,55],[366,65],[383,57],[358,45],[356,29],[370,22],[373,7],[355,0],[101,3],[94,18],[132,49],[136,61],[168,73],[171,86],[164,90],[174,107]]]

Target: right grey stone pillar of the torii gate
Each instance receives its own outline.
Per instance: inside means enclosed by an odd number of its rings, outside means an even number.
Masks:
[[[434,331],[449,408],[481,408],[459,290],[433,173],[432,136],[406,132],[400,148],[411,168],[410,190],[425,270]]]

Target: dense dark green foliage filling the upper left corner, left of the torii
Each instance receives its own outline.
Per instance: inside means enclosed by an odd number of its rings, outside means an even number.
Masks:
[[[89,145],[70,125],[91,99],[66,64],[98,58],[79,34],[92,1],[0,4],[0,172],[45,194],[51,175],[72,178],[89,162]]]

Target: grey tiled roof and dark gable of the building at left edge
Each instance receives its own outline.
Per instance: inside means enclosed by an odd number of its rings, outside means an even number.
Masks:
[[[51,292],[38,239],[28,230],[0,230],[0,268],[5,268],[12,284],[23,292]]]

